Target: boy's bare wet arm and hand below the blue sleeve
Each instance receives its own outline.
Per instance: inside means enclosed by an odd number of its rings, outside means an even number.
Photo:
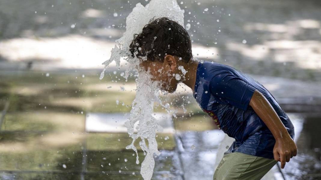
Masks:
[[[281,168],[284,168],[285,161],[289,162],[290,158],[297,155],[297,146],[285,129],[279,116],[262,93],[255,90],[249,105],[272,132],[275,138],[274,159],[280,161]]]

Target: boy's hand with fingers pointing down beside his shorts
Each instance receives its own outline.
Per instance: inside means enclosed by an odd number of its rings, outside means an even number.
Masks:
[[[274,160],[281,162],[281,168],[285,166],[285,161],[289,162],[293,156],[297,155],[297,146],[290,136],[276,140],[273,148]]]

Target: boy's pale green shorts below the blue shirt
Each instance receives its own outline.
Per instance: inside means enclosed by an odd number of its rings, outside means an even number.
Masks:
[[[274,159],[228,153],[217,166],[213,180],[260,180],[276,163]]]

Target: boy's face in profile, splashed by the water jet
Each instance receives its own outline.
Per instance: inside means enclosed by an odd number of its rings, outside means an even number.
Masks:
[[[140,63],[140,67],[143,67],[145,71],[150,71],[152,75],[152,81],[160,82],[161,90],[166,90],[172,93],[176,90],[178,81],[175,79],[173,74],[176,69],[175,65],[169,64],[166,60],[164,62],[146,60]]]

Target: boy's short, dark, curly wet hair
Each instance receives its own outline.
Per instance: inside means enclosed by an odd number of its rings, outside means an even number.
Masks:
[[[176,21],[166,17],[151,19],[140,34],[134,34],[129,51],[132,57],[145,57],[151,61],[164,61],[167,54],[178,56],[187,63],[193,58],[187,31]]]

